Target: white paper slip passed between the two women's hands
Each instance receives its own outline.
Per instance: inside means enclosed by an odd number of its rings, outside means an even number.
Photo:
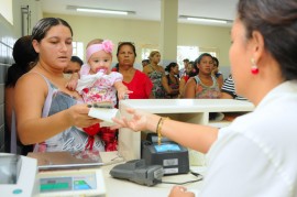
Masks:
[[[107,108],[90,108],[89,116],[92,118],[97,118],[107,122],[108,125],[102,125],[105,122],[100,122],[102,127],[113,125],[113,121],[111,120],[114,117],[120,117],[120,111],[116,108],[107,109]]]

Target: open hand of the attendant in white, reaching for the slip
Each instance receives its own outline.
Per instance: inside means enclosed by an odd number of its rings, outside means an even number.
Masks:
[[[156,124],[160,120],[158,116],[140,110],[136,111],[134,109],[127,109],[127,112],[130,113],[132,118],[129,120],[125,117],[122,117],[120,119],[112,118],[113,122],[116,122],[117,125],[112,127],[111,129],[130,128],[134,131],[156,130]]]

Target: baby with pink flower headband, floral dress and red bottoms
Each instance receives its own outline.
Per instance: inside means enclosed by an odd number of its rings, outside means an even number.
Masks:
[[[123,76],[118,72],[111,72],[113,44],[109,40],[92,43],[87,47],[87,64],[81,66],[79,76],[73,76],[67,88],[76,89],[86,103],[90,107],[114,107],[117,92],[119,100],[131,91],[122,84]],[[98,132],[105,141],[106,151],[117,150],[116,130],[100,128],[99,123],[84,128],[89,134],[86,149],[92,149],[94,135]]]

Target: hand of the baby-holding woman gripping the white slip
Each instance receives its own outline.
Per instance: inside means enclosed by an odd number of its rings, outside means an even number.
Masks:
[[[70,122],[70,125],[75,125],[78,128],[87,128],[92,124],[96,124],[98,122],[101,122],[101,120],[89,117],[90,108],[87,107],[87,105],[75,105],[72,106],[69,109],[67,109],[67,116],[68,121]]]

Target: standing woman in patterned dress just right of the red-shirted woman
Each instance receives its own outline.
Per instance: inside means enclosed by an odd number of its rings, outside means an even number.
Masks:
[[[161,54],[158,51],[152,51],[150,54],[150,64],[144,67],[143,73],[147,75],[154,87],[153,94],[154,98],[163,99],[165,98],[165,89],[162,86],[162,77],[165,75],[164,68],[158,65],[161,61]]]

